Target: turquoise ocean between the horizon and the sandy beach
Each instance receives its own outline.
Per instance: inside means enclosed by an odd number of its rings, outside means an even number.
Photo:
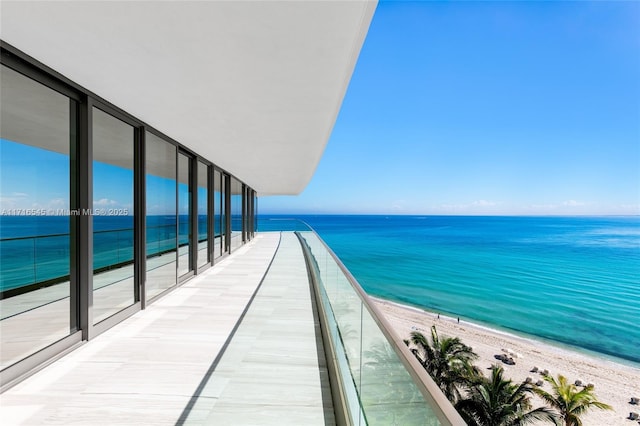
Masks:
[[[299,218],[371,295],[640,363],[640,217]]]

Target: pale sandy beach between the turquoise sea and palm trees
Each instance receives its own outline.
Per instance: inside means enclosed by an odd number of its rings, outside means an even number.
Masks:
[[[398,337],[406,339],[413,330],[429,335],[431,326],[436,325],[439,335],[459,337],[471,346],[479,356],[476,365],[484,371],[488,371],[486,369],[492,364],[499,363],[504,367],[506,377],[514,381],[531,377],[535,383],[542,380],[540,373],[531,372],[536,366],[540,370],[549,370],[554,377],[562,374],[571,382],[580,379],[583,383],[593,383],[598,399],[611,405],[613,411],[589,411],[583,417],[585,426],[638,424],[629,420],[628,416],[630,412],[640,413],[640,406],[629,403],[632,396],[640,397],[640,368],[573,352],[464,320],[458,323],[456,318],[444,315],[438,318],[437,314],[413,307],[376,298],[372,300],[391,323]],[[520,355],[515,359],[515,365],[507,365],[494,358],[494,355],[502,353],[501,350],[507,348]],[[546,382],[543,387],[550,389]],[[542,405],[542,402],[536,397],[534,407],[539,405]]]

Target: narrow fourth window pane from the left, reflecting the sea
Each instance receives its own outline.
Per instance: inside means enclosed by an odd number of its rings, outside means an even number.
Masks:
[[[178,276],[191,271],[191,191],[190,158],[178,154]]]

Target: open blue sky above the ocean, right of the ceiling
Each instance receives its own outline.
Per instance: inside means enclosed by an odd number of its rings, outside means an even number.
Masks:
[[[381,2],[306,190],[259,212],[640,214],[640,2]]]

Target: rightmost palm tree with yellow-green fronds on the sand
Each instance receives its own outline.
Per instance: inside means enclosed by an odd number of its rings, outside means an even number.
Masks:
[[[558,375],[558,380],[551,376],[544,378],[551,384],[551,393],[544,389],[536,389],[536,393],[540,395],[553,409],[558,411],[558,424],[565,426],[582,426],[582,416],[591,408],[600,410],[611,410],[611,406],[596,399],[593,394],[593,386],[585,386],[578,390],[576,385],[568,383],[566,377]]]

